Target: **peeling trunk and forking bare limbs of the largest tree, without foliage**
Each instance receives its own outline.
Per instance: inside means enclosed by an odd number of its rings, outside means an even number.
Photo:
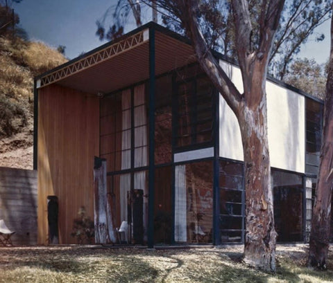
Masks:
[[[173,1],[175,15],[191,36],[198,62],[237,116],[244,147],[246,237],[244,262],[275,271],[276,232],[273,216],[267,136],[266,73],[284,0],[262,1],[259,47],[251,46],[251,21],[246,0],[232,0],[236,43],[244,93],[239,93],[210,52],[196,19],[198,0]],[[175,5],[175,4],[174,4]]]

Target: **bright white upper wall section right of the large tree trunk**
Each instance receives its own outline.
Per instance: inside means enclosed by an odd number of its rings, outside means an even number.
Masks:
[[[305,97],[266,83],[271,166],[305,172]]]

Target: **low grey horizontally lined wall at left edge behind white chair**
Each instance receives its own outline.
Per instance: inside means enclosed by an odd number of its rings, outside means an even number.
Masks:
[[[15,231],[12,244],[37,244],[37,172],[0,167],[0,219]]]

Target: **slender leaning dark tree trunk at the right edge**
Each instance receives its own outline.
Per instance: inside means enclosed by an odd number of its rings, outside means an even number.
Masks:
[[[316,202],[312,212],[308,265],[327,269],[330,246],[330,216],[333,182],[333,18],[331,21],[331,54],[327,74],[324,106],[323,145],[316,187]]]

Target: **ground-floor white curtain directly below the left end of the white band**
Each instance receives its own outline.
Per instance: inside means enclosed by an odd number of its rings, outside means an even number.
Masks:
[[[175,179],[175,241],[187,241],[186,206],[186,165],[178,165]]]

